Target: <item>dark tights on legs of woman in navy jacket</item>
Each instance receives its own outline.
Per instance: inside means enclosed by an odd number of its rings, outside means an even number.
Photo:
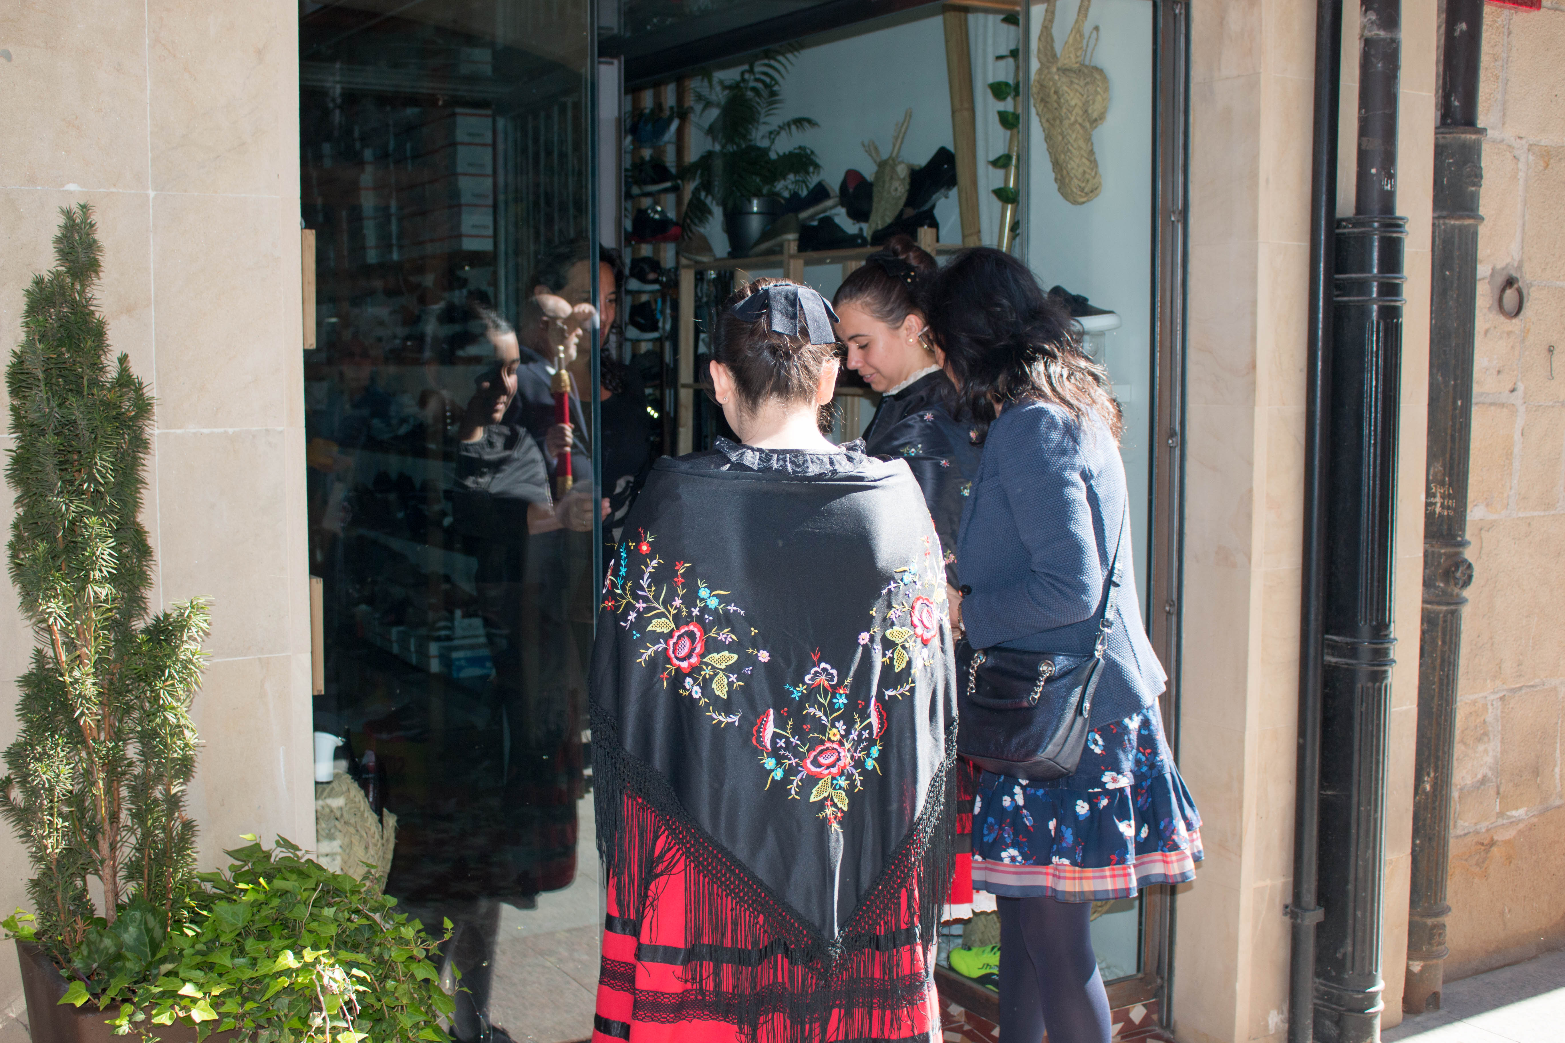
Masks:
[[[1092,902],[1000,898],[1000,1038],[1108,1043],[1108,995],[1092,955]]]

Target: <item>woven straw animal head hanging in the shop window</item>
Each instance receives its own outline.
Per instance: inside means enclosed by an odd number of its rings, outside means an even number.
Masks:
[[[1049,163],[1055,167],[1055,185],[1067,203],[1096,199],[1103,191],[1092,152],[1092,131],[1108,116],[1108,73],[1086,64],[1086,14],[1092,0],[1077,6],[1075,23],[1066,45],[1055,53],[1055,5],[1045,0],[1044,27],[1038,33],[1038,72],[1033,73],[1033,111],[1044,127]],[[1092,27],[1092,52],[1097,52],[1097,27]]]

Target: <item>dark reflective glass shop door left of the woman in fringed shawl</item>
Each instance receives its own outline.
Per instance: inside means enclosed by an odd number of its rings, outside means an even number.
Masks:
[[[596,344],[538,297],[568,316],[613,289],[590,19],[587,0],[299,5],[315,727],[346,740],[319,857],[376,862],[405,912],[452,921],[465,1041],[592,1034]]]

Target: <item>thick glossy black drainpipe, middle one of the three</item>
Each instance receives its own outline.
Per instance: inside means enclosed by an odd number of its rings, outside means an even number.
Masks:
[[[1326,452],[1326,647],[1321,672],[1315,1038],[1380,1034],[1385,766],[1391,630],[1402,253],[1396,216],[1401,0],[1363,0],[1354,216],[1337,222]]]

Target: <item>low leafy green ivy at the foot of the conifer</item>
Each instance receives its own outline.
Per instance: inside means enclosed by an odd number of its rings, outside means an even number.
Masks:
[[[75,977],[61,1002],[119,1004],[119,1032],[156,1037],[175,1021],[197,1040],[236,1030],[257,1043],[446,1043],[455,1004],[440,985],[438,941],[394,901],[302,857],[285,838],[230,851],[156,966],[131,980]],[[124,916],[121,918],[124,919]],[[451,921],[444,923],[449,938]],[[441,938],[444,940],[444,938]]]

